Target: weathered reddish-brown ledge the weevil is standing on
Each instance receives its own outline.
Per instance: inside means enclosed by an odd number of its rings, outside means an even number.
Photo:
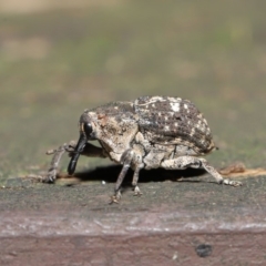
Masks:
[[[0,191],[1,265],[266,265],[265,177],[235,188],[155,173],[166,181],[141,183],[142,197],[125,190],[113,205],[112,182],[13,181]]]

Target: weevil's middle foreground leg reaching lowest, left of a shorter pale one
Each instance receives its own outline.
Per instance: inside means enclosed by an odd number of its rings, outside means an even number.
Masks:
[[[127,150],[123,153],[122,157],[121,157],[121,163],[123,164],[123,167],[120,172],[120,175],[116,180],[116,183],[115,183],[115,188],[114,188],[114,195],[111,197],[111,203],[119,203],[120,198],[121,198],[121,184],[131,166],[131,161],[133,158],[133,151],[132,150]]]

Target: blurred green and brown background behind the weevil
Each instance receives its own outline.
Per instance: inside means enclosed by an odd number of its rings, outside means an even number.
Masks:
[[[53,2],[0,0],[1,183],[48,168],[84,109],[144,94],[197,105],[216,167],[264,166],[266,1]]]

